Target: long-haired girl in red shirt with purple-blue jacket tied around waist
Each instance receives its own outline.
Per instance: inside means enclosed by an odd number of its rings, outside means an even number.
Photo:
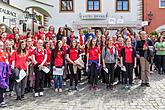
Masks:
[[[90,87],[91,90],[97,90],[97,82],[98,82],[98,72],[97,69],[100,67],[100,49],[96,46],[96,38],[92,38],[90,41],[88,52],[87,52],[87,69],[88,66],[90,68]]]

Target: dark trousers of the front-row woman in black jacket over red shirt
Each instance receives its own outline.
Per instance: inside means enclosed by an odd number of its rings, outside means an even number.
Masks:
[[[132,81],[133,81],[133,64],[126,63],[125,67],[126,67],[126,72],[125,72],[125,75],[124,75],[124,84],[132,85]]]

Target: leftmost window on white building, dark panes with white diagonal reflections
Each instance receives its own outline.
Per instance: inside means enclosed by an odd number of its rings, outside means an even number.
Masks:
[[[61,0],[61,11],[73,11],[73,0]]]

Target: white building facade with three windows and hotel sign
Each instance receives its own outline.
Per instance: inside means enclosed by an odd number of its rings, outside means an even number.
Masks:
[[[114,34],[122,27],[141,30],[141,0],[55,0],[52,24],[67,27],[77,33],[92,27]]]

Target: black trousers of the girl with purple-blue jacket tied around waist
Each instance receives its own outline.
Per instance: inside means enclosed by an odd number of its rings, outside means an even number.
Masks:
[[[96,63],[92,63],[90,66],[90,84],[97,85],[98,82],[98,71]]]

